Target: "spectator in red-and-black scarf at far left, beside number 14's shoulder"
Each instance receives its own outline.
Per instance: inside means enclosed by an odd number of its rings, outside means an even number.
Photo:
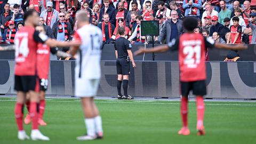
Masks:
[[[8,28],[4,30],[4,42],[8,44],[14,44],[14,37],[16,34],[16,29],[14,25],[14,21],[10,20],[7,22]]]

